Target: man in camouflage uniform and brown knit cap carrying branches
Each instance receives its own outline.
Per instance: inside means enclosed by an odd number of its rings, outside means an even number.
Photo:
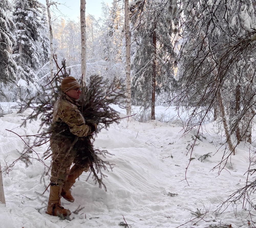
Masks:
[[[65,124],[68,134],[73,137],[63,137],[56,140],[53,137],[50,140],[50,146],[53,153],[51,178],[50,178],[50,195],[46,213],[54,216],[68,216],[71,214],[60,206],[61,196],[74,202],[70,188],[76,179],[90,169],[90,161],[85,160],[80,164],[79,154],[73,145],[77,137],[83,137],[95,131],[97,125],[86,123],[80,111],[80,105],[77,100],[81,95],[81,86],[79,82],[71,76],[65,77],[61,82],[61,95],[56,101],[53,109],[52,127],[61,128]],[[61,129],[60,129],[61,130]],[[73,167],[70,166],[74,163]]]

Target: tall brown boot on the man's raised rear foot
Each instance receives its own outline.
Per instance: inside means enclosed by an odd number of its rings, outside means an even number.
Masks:
[[[83,173],[83,171],[84,170],[80,169],[77,165],[73,165],[73,167],[69,170],[69,175],[61,191],[61,196],[69,202],[74,202],[75,200],[71,195],[70,188],[76,182],[76,179]]]

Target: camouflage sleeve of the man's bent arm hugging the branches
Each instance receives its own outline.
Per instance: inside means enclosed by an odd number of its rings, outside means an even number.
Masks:
[[[66,110],[62,121],[69,126],[70,132],[78,137],[91,133],[91,127],[85,123],[82,113],[77,109]]]

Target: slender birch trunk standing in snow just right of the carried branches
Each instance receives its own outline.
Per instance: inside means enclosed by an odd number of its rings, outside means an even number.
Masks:
[[[126,75],[126,114],[131,116],[131,32],[129,18],[129,0],[124,0],[124,25],[125,25],[125,75]]]

